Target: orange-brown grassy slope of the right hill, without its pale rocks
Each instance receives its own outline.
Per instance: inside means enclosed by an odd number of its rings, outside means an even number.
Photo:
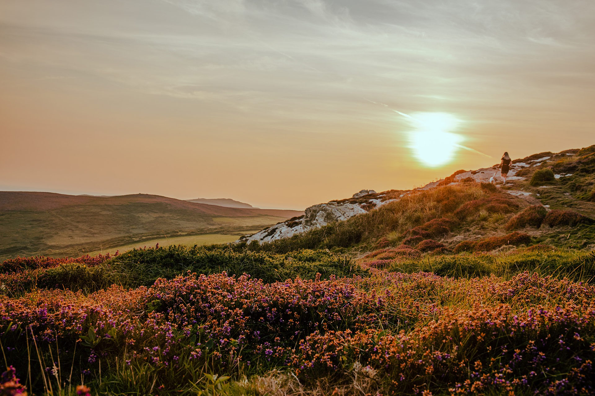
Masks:
[[[479,240],[486,237],[498,237],[508,234],[506,224],[536,200],[522,199],[506,193],[506,190],[522,190],[535,193],[537,203],[549,205],[549,209],[573,210],[588,218],[595,219],[595,200],[591,199],[595,177],[595,146],[582,149],[573,156],[563,152],[560,155],[539,153],[529,157],[542,158],[549,154],[550,162],[524,169],[527,181],[513,181],[507,186],[493,189],[478,183],[459,183],[455,186],[435,187],[430,190],[414,191],[398,202],[389,203],[379,209],[354,216],[344,222],[329,224],[317,230],[311,230],[292,238],[250,249],[271,252],[289,252],[290,250],[333,249],[337,252],[357,255],[384,247],[397,247],[415,234],[416,227],[433,219],[446,218],[452,221],[447,232],[432,235],[424,234],[422,239],[436,240],[446,245],[447,253],[466,240]],[[516,160],[516,162],[527,159]],[[575,173],[570,177],[531,186],[530,180],[538,169],[552,167],[557,172]],[[577,187],[578,186],[578,187]],[[537,196],[537,194],[539,194]],[[426,227],[427,228],[427,227]],[[595,225],[580,224],[574,227],[559,225],[539,228],[525,227],[520,232],[530,235],[532,243],[552,244],[560,247],[580,247],[591,249],[595,246]]]

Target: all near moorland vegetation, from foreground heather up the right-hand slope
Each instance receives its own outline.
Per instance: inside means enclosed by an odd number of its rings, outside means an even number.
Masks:
[[[595,146],[546,156],[271,243],[5,260],[0,389],[593,394]]]

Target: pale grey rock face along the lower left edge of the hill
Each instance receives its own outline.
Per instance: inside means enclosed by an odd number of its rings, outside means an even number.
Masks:
[[[400,191],[398,191],[400,193]],[[258,241],[258,243],[270,242],[280,238],[289,238],[300,232],[319,228],[334,221],[347,220],[350,217],[366,213],[378,206],[394,201],[398,194],[392,191],[378,194],[374,190],[361,190],[353,194],[350,199],[331,201],[310,206],[305,210],[303,216],[295,217],[273,227],[265,228],[256,234],[245,235],[238,242]]]

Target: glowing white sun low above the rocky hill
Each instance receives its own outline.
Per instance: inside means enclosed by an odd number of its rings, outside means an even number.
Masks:
[[[409,119],[414,130],[409,132],[409,144],[415,158],[422,164],[437,167],[452,161],[464,138],[452,133],[460,121],[452,114],[421,112]]]

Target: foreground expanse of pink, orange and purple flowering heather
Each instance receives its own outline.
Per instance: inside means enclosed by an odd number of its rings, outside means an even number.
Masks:
[[[271,283],[186,274],[88,295],[5,296],[0,323],[17,372],[33,363],[21,383],[36,392],[74,378],[99,392],[174,394],[208,388],[204,374],[249,378],[244,391],[256,392],[256,378],[276,369],[344,392],[363,371],[381,394],[572,394],[593,386],[594,291],[528,272],[506,280],[372,270]],[[62,369],[50,375],[57,359]]]

